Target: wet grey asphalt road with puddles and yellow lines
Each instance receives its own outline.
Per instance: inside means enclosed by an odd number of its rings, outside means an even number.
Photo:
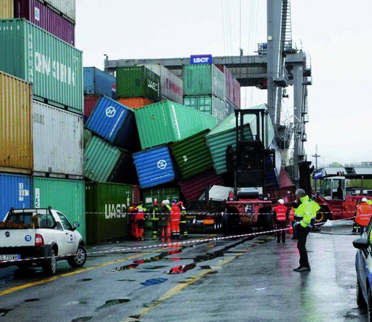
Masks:
[[[355,295],[357,236],[342,235],[350,231],[351,223],[337,222],[311,233],[311,271],[302,273],[292,271],[294,241],[278,245],[268,235],[92,256],[83,270],[62,261],[52,279],[36,268],[0,269],[0,322],[364,322]]]

